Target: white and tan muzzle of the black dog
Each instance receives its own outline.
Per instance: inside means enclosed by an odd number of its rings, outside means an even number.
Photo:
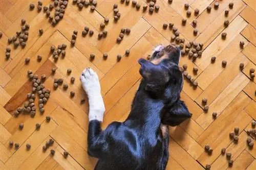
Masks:
[[[174,53],[179,53],[179,57],[177,59],[172,59],[171,56]],[[174,45],[158,45],[154,48],[154,52],[149,58],[150,62],[154,64],[159,64],[164,59],[172,59],[176,61],[175,63],[179,63],[180,60],[180,49]],[[177,62],[178,61],[178,62]]]

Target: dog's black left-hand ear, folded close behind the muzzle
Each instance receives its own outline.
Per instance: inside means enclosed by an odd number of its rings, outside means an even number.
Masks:
[[[163,85],[169,81],[169,71],[162,64],[155,65],[145,59],[139,59],[138,62],[141,65],[139,70],[140,75],[147,83]]]

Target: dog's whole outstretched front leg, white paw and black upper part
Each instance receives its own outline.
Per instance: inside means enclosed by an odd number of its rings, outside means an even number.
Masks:
[[[88,153],[99,158],[106,134],[101,130],[105,106],[100,93],[99,78],[94,70],[86,68],[80,77],[89,99]]]

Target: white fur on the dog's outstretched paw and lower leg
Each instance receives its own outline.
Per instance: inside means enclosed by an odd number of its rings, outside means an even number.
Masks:
[[[89,121],[96,119],[102,122],[105,106],[100,93],[98,75],[91,68],[86,68],[82,71],[80,81],[89,99]]]

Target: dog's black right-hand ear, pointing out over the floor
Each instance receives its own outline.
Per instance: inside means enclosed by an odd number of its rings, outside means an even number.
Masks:
[[[178,126],[191,116],[192,114],[189,113],[185,103],[181,100],[178,100],[172,105],[169,111],[163,113],[162,124]]]

